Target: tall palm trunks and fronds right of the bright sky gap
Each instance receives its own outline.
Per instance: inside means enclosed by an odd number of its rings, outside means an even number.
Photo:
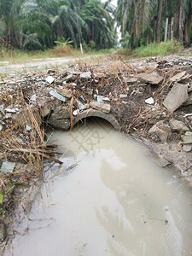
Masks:
[[[190,27],[192,26],[191,0],[118,0],[115,19],[122,33],[122,46],[135,49],[148,43],[160,43],[164,40],[166,18],[174,18],[173,35],[177,41],[186,46],[192,42]],[[127,44],[126,33],[130,35]],[[171,33],[168,35],[168,39]],[[128,46],[127,46],[128,45]]]

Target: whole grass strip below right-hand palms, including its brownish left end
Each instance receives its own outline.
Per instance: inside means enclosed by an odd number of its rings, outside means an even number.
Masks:
[[[127,55],[130,57],[148,57],[148,56],[163,56],[166,54],[171,54],[177,52],[178,50],[183,49],[183,45],[177,41],[162,42],[160,44],[148,44],[148,46],[141,46],[137,49],[119,49],[119,55]]]

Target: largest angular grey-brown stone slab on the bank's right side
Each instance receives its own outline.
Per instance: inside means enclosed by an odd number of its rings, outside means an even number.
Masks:
[[[189,98],[187,93],[187,85],[185,84],[174,84],[172,90],[166,96],[163,105],[171,112],[174,112],[179,108],[183,102],[186,102]]]

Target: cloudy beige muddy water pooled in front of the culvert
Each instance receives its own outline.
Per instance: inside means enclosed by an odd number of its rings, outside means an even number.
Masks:
[[[5,255],[192,253],[189,191],[145,148],[97,120],[51,141],[64,164],[45,167],[41,196]]]

